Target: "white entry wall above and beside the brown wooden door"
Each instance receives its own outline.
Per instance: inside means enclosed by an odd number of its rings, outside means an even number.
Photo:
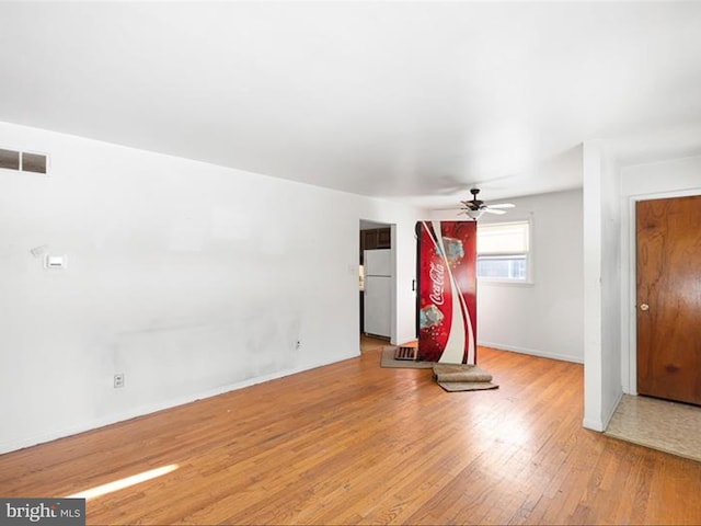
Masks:
[[[624,203],[621,209],[621,380],[637,393],[635,331],[635,203],[701,194],[701,157],[671,159],[621,168]]]

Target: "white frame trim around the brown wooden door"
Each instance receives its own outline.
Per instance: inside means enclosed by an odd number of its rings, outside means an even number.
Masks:
[[[621,384],[623,392],[637,395],[637,255],[636,255],[636,229],[635,205],[639,201],[666,199],[674,197],[689,197],[701,195],[698,188],[679,190],[670,192],[655,192],[652,194],[637,194],[628,196],[628,209],[622,210],[621,237],[628,235],[628,248],[621,243],[621,268],[628,266],[628,283],[622,283],[621,291]],[[628,263],[627,263],[628,260]],[[625,352],[628,350],[628,352]]]

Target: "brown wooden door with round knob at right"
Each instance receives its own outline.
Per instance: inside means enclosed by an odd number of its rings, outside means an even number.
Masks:
[[[641,201],[637,392],[701,405],[701,195]]]

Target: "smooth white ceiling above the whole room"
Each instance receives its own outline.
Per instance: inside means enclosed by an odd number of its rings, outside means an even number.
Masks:
[[[628,162],[701,151],[699,2],[12,2],[0,20],[0,121],[428,207],[474,183],[579,186],[586,139]]]

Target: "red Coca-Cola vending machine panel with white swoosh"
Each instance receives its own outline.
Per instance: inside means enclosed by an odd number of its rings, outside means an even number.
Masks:
[[[476,363],[476,222],[420,221],[418,359]]]

